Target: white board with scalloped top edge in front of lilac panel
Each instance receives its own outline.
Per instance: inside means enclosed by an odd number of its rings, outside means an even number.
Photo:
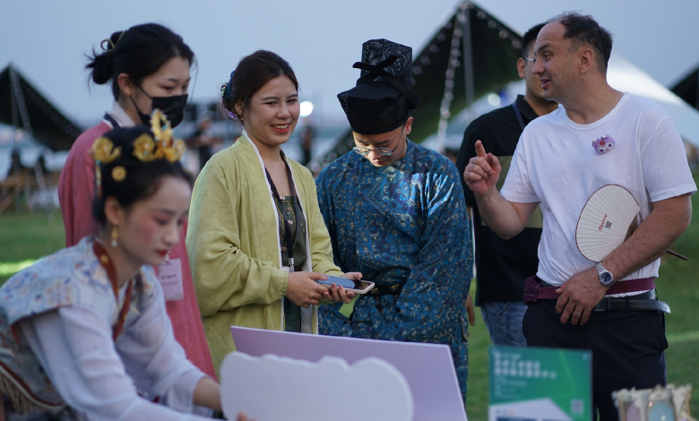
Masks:
[[[413,401],[405,377],[383,359],[348,365],[338,357],[317,363],[230,353],[220,367],[221,406],[229,419],[240,411],[259,421],[411,421]]]

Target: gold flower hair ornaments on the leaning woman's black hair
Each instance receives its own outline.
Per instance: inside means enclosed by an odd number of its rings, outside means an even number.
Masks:
[[[153,110],[151,116],[151,133],[142,133],[134,141],[134,157],[141,162],[151,162],[156,159],[166,159],[168,162],[176,162],[185,153],[185,142],[172,138],[172,126],[168,117],[160,109]],[[97,195],[102,196],[102,172],[101,165],[108,164],[119,158],[122,147],[114,147],[107,137],[101,136],[92,143],[90,154],[95,159],[95,187]],[[126,178],[126,168],[117,166],[112,169],[112,179],[121,182]]]

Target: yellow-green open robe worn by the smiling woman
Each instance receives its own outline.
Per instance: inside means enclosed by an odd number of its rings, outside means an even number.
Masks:
[[[306,267],[341,275],[318,209],[311,173],[287,159],[306,218]],[[243,133],[215,154],[194,185],[186,245],[196,299],[216,373],[235,350],[230,326],[283,330],[287,271],[281,270],[279,219],[263,160]],[[312,262],[313,266],[309,267]],[[302,330],[317,333],[317,308],[302,308]]]

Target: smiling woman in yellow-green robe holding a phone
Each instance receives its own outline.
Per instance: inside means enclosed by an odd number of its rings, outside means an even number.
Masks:
[[[186,238],[216,367],[235,350],[230,326],[317,333],[321,300],[353,295],[316,280],[361,277],[342,275],[332,262],[313,176],[281,150],[300,112],[289,63],[257,51],[222,90],[222,111],[242,123],[243,134],[197,178]]]

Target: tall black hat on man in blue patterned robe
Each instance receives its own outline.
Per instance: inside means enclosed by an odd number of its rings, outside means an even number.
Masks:
[[[391,132],[408,119],[420,99],[410,90],[412,48],[387,39],[362,44],[357,86],[338,94],[352,131],[360,134]]]

